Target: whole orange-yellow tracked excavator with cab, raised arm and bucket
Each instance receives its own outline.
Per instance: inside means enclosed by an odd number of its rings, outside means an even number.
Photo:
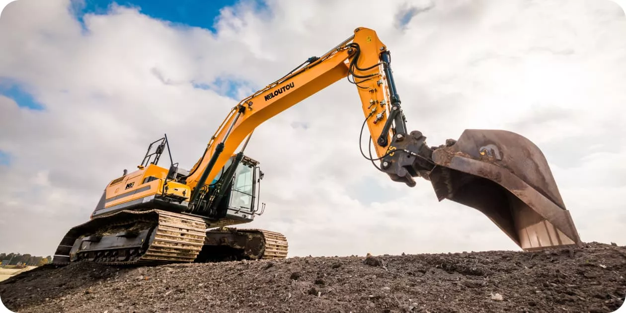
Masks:
[[[428,146],[421,131],[406,126],[387,46],[373,29],[356,28],[327,53],[234,106],[191,170],[173,163],[167,135],[151,143],[138,170],[111,180],[90,220],[64,235],[53,264],[286,258],[282,233],[232,227],[252,222],[265,209],[259,203],[264,172],[244,150],[261,123],[342,78],[356,86],[361,100],[361,136],[365,125],[369,129],[369,156],[359,141],[361,155],[379,172],[408,187],[416,185],[415,178],[428,180],[439,202],[475,208],[522,250],[582,247],[534,143],[510,131],[469,129],[458,140]],[[166,149],[170,167],[159,167]]]

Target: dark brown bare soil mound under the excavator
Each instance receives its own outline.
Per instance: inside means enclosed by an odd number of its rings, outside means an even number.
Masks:
[[[46,265],[0,283],[19,312],[613,312],[626,247],[155,267]]]

